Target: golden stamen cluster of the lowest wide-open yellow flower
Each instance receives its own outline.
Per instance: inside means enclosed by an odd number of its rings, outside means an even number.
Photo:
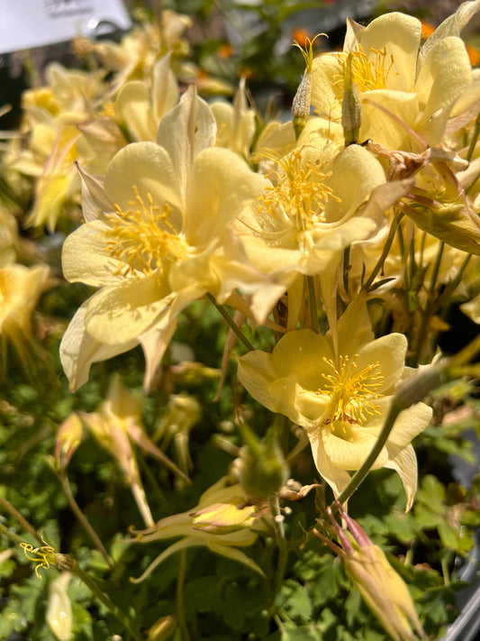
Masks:
[[[385,380],[377,371],[379,363],[357,371],[356,358],[357,355],[350,362],[348,356],[340,356],[338,367],[331,359],[323,359],[333,372],[322,374],[325,384],[317,391],[317,394],[331,397],[331,415],[325,421],[327,424],[340,420],[362,425],[367,421],[367,415],[379,414],[378,406],[372,402],[374,398],[383,396],[376,391]]]

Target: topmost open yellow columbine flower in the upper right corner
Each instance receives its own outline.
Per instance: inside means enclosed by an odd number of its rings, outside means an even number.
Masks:
[[[412,140],[402,121],[430,145],[438,144],[452,109],[473,81],[465,45],[452,33],[444,29],[421,48],[421,23],[410,15],[384,14],[366,28],[349,21],[344,50],[313,60],[312,105],[340,122],[351,56],[352,79],[363,103],[359,140],[371,138],[389,149],[410,149]],[[471,103],[479,93],[477,87]]]

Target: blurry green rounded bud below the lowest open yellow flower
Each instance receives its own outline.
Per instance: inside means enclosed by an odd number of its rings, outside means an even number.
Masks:
[[[233,462],[233,472],[249,499],[263,501],[285,485],[288,465],[273,428],[268,430],[263,441],[259,441],[246,425],[240,427],[240,432],[245,445]]]

